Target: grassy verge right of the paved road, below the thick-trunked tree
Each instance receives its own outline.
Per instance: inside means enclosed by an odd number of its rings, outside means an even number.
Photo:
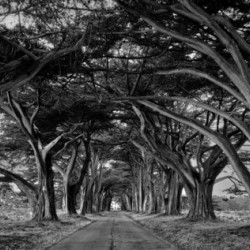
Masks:
[[[154,234],[183,250],[250,249],[249,220],[236,222],[236,216],[215,221],[191,222],[182,216],[129,215]],[[219,216],[220,217],[220,216]],[[248,217],[249,218],[249,217]]]

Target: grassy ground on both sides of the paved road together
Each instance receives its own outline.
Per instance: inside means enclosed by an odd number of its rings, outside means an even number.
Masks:
[[[97,215],[68,218],[59,211],[60,222],[32,222],[27,210],[0,211],[0,249],[45,249],[98,219]],[[190,222],[180,216],[127,213],[155,234],[188,250],[250,249],[250,212],[217,212],[216,221]]]

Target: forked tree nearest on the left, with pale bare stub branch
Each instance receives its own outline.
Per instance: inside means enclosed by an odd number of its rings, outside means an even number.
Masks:
[[[43,217],[57,220],[53,171],[50,151],[62,139],[65,133],[60,134],[47,145],[43,145],[41,134],[34,124],[34,119],[39,111],[39,100],[37,108],[32,115],[29,115],[24,107],[8,93],[8,106],[1,102],[1,108],[19,123],[20,128],[27,136],[27,141],[31,145],[38,172],[38,202],[34,218],[42,220]]]

